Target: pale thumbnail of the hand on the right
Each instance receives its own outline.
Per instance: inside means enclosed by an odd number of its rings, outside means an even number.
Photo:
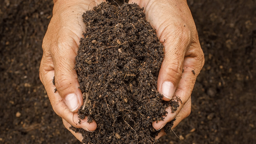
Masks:
[[[170,81],[163,82],[161,87],[161,93],[166,98],[172,99],[172,96],[174,94],[174,84],[172,84],[172,82]]]

